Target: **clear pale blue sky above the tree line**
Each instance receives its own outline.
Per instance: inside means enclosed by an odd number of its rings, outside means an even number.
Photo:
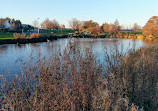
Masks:
[[[124,26],[144,26],[150,17],[158,15],[158,0],[1,0],[0,4],[0,17],[20,19],[25,24],[37,18],[39,22],[55,18],[67,27],[72,18],[100,25],[118,19]]]

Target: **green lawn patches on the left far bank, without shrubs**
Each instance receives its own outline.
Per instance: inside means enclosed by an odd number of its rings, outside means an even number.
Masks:
[[[50,36],[50,35],[56,35],[56,36],[61,36],[63,34],[68,34],[68,33],[73,33],[74,31],[72,30],[47,30],[47,31],[43,31],[40,33],[41,36]],[[4,39],[14,39],[13,36],[14,33],[11,32],[7,32],[7,33],[1,33],[0,32],[0,40],[4,40]],[[26,36],[30,36],[30,34],[26,34]]]

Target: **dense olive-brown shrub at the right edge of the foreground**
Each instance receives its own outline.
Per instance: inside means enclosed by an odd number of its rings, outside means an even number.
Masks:
[[[158,110],[158,47],[131,52],[123,66],[130,101],[145,111]]]

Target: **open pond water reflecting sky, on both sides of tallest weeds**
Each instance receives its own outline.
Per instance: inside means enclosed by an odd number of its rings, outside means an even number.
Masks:
[[[136,49],[143,46],[144,43],[141,40],[133,39],[73,39],[81,49],[92,48],[97,58],[102,61],[104,51],[107,49],[118,48],[119,51],[123,48],[123,52],[127,52],[127,49],[133,48],[135,44]],[[0,73],[13,72],[17,73],[21,68],[22,63],[29,62],[30,54],[33,53],[33,60],[38,60],[38,53],[41,50],[41,56],[49,57],[60,45],[61,51],[63,51],[68,44],[68,39],[59,39],[51,42],[43,43],[31,43],[31,44],[12,44],[12,45],[0,45]],[[117,45],[117,47],[116,47]]]

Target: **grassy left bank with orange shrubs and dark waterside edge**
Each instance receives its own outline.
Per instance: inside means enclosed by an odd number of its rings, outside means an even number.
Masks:
[[[0,44],[26,44],[47,42],[47,40],[55,40],[58,38],[68,38],[72,30],[46,30],[37,33],[0,33]],[[15,36],[16,35],[16,36]],[[37,35],[37,36],[35,36]]]

